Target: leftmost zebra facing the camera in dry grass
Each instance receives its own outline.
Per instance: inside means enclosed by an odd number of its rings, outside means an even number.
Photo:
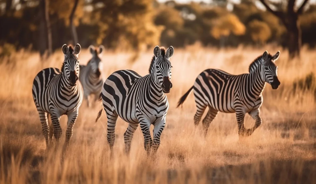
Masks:
[[[64,62],[61,70],[58,68],[45,68],[41,70],[33,80],[32,94],[37,111],[40,115],[42,131],[46,140],[46,148],[49,147],[50,128],[48,116],[51,115],[53,134],[59,142],[62,129],[59,118],[68,116],[66,143],[72,137],[73,126],[78,116],[78,110],[83,99],[83,89],[78,80],[79,60],[81,46],[63,45]]]

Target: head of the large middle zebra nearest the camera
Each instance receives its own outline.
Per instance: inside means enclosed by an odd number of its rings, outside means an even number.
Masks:
[[[150,64],[149,73],[153,74],[154,80],[159,84],[164,93],[169,93],[172,88],[171,83],[171,62],[169,58],[173,55],[173,47],[170,46],[167,50],[164,47],[154,48],[154,57]]]

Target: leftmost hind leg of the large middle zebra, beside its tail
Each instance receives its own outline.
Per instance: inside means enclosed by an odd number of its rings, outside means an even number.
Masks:
[[[113,145],[114,145],[114,140],[115,140],[115,125],[116,125],[116,121],[118,119],[118,114],[114,111],[111,112],[109,110],[106,110],[106,108],[104,108],[104,110],[106,111],[106,117],[107,117],[107,142],[110,145],[110,149],[112,151],[113,149]]]

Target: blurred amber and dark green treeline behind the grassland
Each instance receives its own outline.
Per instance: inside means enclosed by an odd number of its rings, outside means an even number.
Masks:
[[[71,22],[82,47],[103,44],[111,49],[142,50],[154,45],[184,47],[196,42],[217,47],[240,44],[259,47],[267,43],[286,46],[287,29],[278,17],[259,9],[254,0],[230,5],[228,10],[225,0],[210,4],[155,0],[0,0],[0,46],[43,53],[48,45],[56,50],[65,43],[75,44]],[[302,44],[315,47],[316,6],[309,4],[298,20]],[[51,34],[51,41],[47,33]]]

